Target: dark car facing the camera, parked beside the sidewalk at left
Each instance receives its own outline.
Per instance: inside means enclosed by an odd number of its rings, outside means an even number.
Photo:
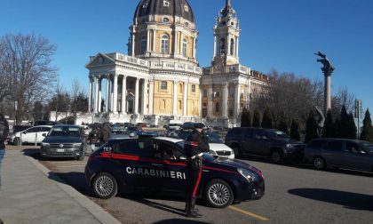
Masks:
[[[83,160],[87,140],[83,128],[72,124],[56,124],[46,135],[40,148],[42,158],[73,157]]]

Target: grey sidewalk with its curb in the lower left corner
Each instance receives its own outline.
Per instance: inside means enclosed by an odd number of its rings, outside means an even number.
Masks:
[[[121,223],[20,149],[6,149],[0,219],[12,223]]]

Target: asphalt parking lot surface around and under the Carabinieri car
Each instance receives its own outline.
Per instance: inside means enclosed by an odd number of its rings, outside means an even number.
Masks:
[[[38,158],[38,149],[25,149]],[[68,184],[88,196],[123,223],[190,221],[183,215],[183,198],[123,195],[109,200],[92,196],[83,176],[87,161],[41,161]],[[370,223],[373,220],[373,174],[345,170],[315,171],[306,164],[270,164],[244,157],[266,178],[266,195],[256,201],[213,209],[198,203],[201,223]]]

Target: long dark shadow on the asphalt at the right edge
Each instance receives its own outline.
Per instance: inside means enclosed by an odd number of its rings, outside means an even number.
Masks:
[[[290,189],[288,192],[295,196],[340,204],[348,209],[373,211],[373,196],[369,195],[321,188],[296,188]]]

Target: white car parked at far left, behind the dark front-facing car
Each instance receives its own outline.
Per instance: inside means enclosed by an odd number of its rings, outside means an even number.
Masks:
[[[44,140],[44,134],[51,131],[52,125],[40,125],[40,126],[28,126],[27,129],[22,131],[17,130],[17,127],[20,127],[19,130],[22,130],[24,126],[14,126],[14,131],[12,133],[10,142],[13,145],[18,146],[19,144],[40,144]],[[18,131],[18,132],[17,132]]]

